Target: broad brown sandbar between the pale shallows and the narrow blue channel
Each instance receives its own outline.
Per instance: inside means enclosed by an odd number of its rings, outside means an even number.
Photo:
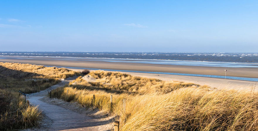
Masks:
[[[2,56],[0,56],[1,58]],[[6,57],[6,56],[5,56]],[[16,59],[12,59],[16,58]],[[32,57],[33,58],[33,57]],[[6,59],[0,59],[0,62],[14,63],[29,63],[35,65],[48,66],[64,66],[64,67],[79,67],[79,68],[99,68],[111,70],[134,70],[145,72],[170,72],[170,73],[185,73],[199,75],[219,75],[232,77],[258,78],[257,68],[229,68],[229,67],[208,67],[208,66],[186,66],[186,65],[162,65],[162,64],[146,64],[146,63],[122,63],[122,62],[107,62],[107,61],[69,61],[60,60],[62,58],[44,57],[44,59],[25,59],[24,57],[9,56]]]

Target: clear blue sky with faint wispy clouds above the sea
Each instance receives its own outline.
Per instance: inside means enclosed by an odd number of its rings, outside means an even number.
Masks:
[[[257,0],[0,1],[0,51],[257,49]]]

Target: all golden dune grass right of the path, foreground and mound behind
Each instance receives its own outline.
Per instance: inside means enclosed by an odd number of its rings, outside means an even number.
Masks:
[[[79,77],[53,90],[53,96],[116,116],[122,131],[258,130],[258,94],[254,91],[218,90],[119,72],[93,71],[89,75],[95,82]]]

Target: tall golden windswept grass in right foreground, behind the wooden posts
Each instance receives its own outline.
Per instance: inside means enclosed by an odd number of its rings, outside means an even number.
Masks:
[[[116,116],[122,131],[258,129],[257,93],[217,90],[206,86],[179,88],[166,94],[111,93],[72,86],[60,87],[52,92],[53,97],[98,108]],[[110,95],[113,95],[112,105]],[[126,99],[125,111],[123,99]]]

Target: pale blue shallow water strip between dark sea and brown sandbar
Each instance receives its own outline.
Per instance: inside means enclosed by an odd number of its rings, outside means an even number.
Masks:
[[[207,67],[232,67],[232,68],[258,68],[258,63],[219,62],[219,61],[184,61],[184,60],[156,60],[156,59],[124,59],[124,58],[92,58],[92,57],[60,57],[60,56],[2,56],[0,59],[55,59],[70,61],[108,61],[124,63],[146,63],[159,65],[180,66],[207,66]]]

